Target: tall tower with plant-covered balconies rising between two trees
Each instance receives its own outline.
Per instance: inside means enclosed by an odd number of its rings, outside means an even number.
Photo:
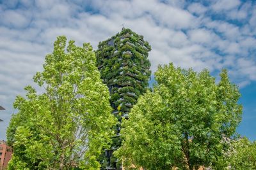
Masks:
[[[98,48],[97,66],[102,80],[108,85],[113,114],[121,122],[122,118],[129,118],[132,106],[148,88],[151,74],[148,52],[151,47],[143,36],[131,29],[122,29],[115,36],[100,42]],[[113,157],[113,151],[121,144],[120,124],[115,131],[111,150],[105,152],[102,169],[122,168]]]

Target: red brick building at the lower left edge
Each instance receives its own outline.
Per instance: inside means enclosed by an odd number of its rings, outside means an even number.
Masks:
[[[0,141],[0,170],[6,169],[12,157],[12,148],[5,141]]]

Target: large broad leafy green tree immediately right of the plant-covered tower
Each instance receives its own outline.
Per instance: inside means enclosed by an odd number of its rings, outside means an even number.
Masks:
[[[159,66],[157,85],[138,99],[122,123],[122,147],[115,153],[125,167],[198,169],[223,154],[223,136],[236,132],[242,106],[227,71],[215,79],[206,69],[196,73]]]

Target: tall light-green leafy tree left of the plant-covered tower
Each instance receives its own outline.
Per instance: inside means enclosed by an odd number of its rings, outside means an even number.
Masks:
[[[28,86],[26,98],[15,100],[19,113],[7,131],[14,150],[9,169],[99,169],[97,159],[116,124],[108,87],[100,80],[92,46],[69,41],[66,49],[66,41],[57,38],[44,71],[33,78],[45,92]]]

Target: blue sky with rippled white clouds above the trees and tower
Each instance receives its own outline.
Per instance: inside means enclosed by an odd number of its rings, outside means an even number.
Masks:
[[[221,69],[228,69],[242,95],[237,132],[256,140],[256,1],[239,0],[0,0],[0,105],[6,108],[0,111],[0,139],[17,113],[15,97],[25,95],[26,85],[36,87],[33,75],[42,71],[57,36],[97,50],[122,24],[152,46],[153,73],[173,62],[207,68],[218,81]]]

